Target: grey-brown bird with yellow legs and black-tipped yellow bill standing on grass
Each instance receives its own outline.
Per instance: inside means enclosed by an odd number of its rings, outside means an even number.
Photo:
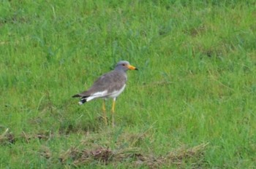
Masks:
[[[99,76],[99,78],[88,90],[73,95],[72,98],[80,98],[80,101],[78,102],[80,105],[97,98],[103,98],[102,111],[105,125],[108,125],[105,109],[105,99],[113,98],[111,113],[112,125],[114,126],[116,98],[124,91],[124,88],[126,87],[128,70],[138,70],[138,68],[130,65],[127,60],[121,60],[116,64],[116,67],[113,71]]]

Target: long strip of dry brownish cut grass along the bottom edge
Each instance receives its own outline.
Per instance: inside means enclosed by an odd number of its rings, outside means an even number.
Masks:
[[[143,154],[139,148],[110,149],[98,146],[94,149],[79,149],[72,146],[61,154],[59,159],[63,164],[72,160],[72,165],[75,167],[88,165],[95,161],[104,165],[115,165],[118,162],[129,161],[135,167],[145,165],[148,168],[160,168],[161,166],[171,165],[180,168],[184,161],[193,159],[193,168],[198,168],[203,165],[204,150],[207,145],[208,143],[203,143],[190,148],[182,147],[159,157],[152,154]]]

